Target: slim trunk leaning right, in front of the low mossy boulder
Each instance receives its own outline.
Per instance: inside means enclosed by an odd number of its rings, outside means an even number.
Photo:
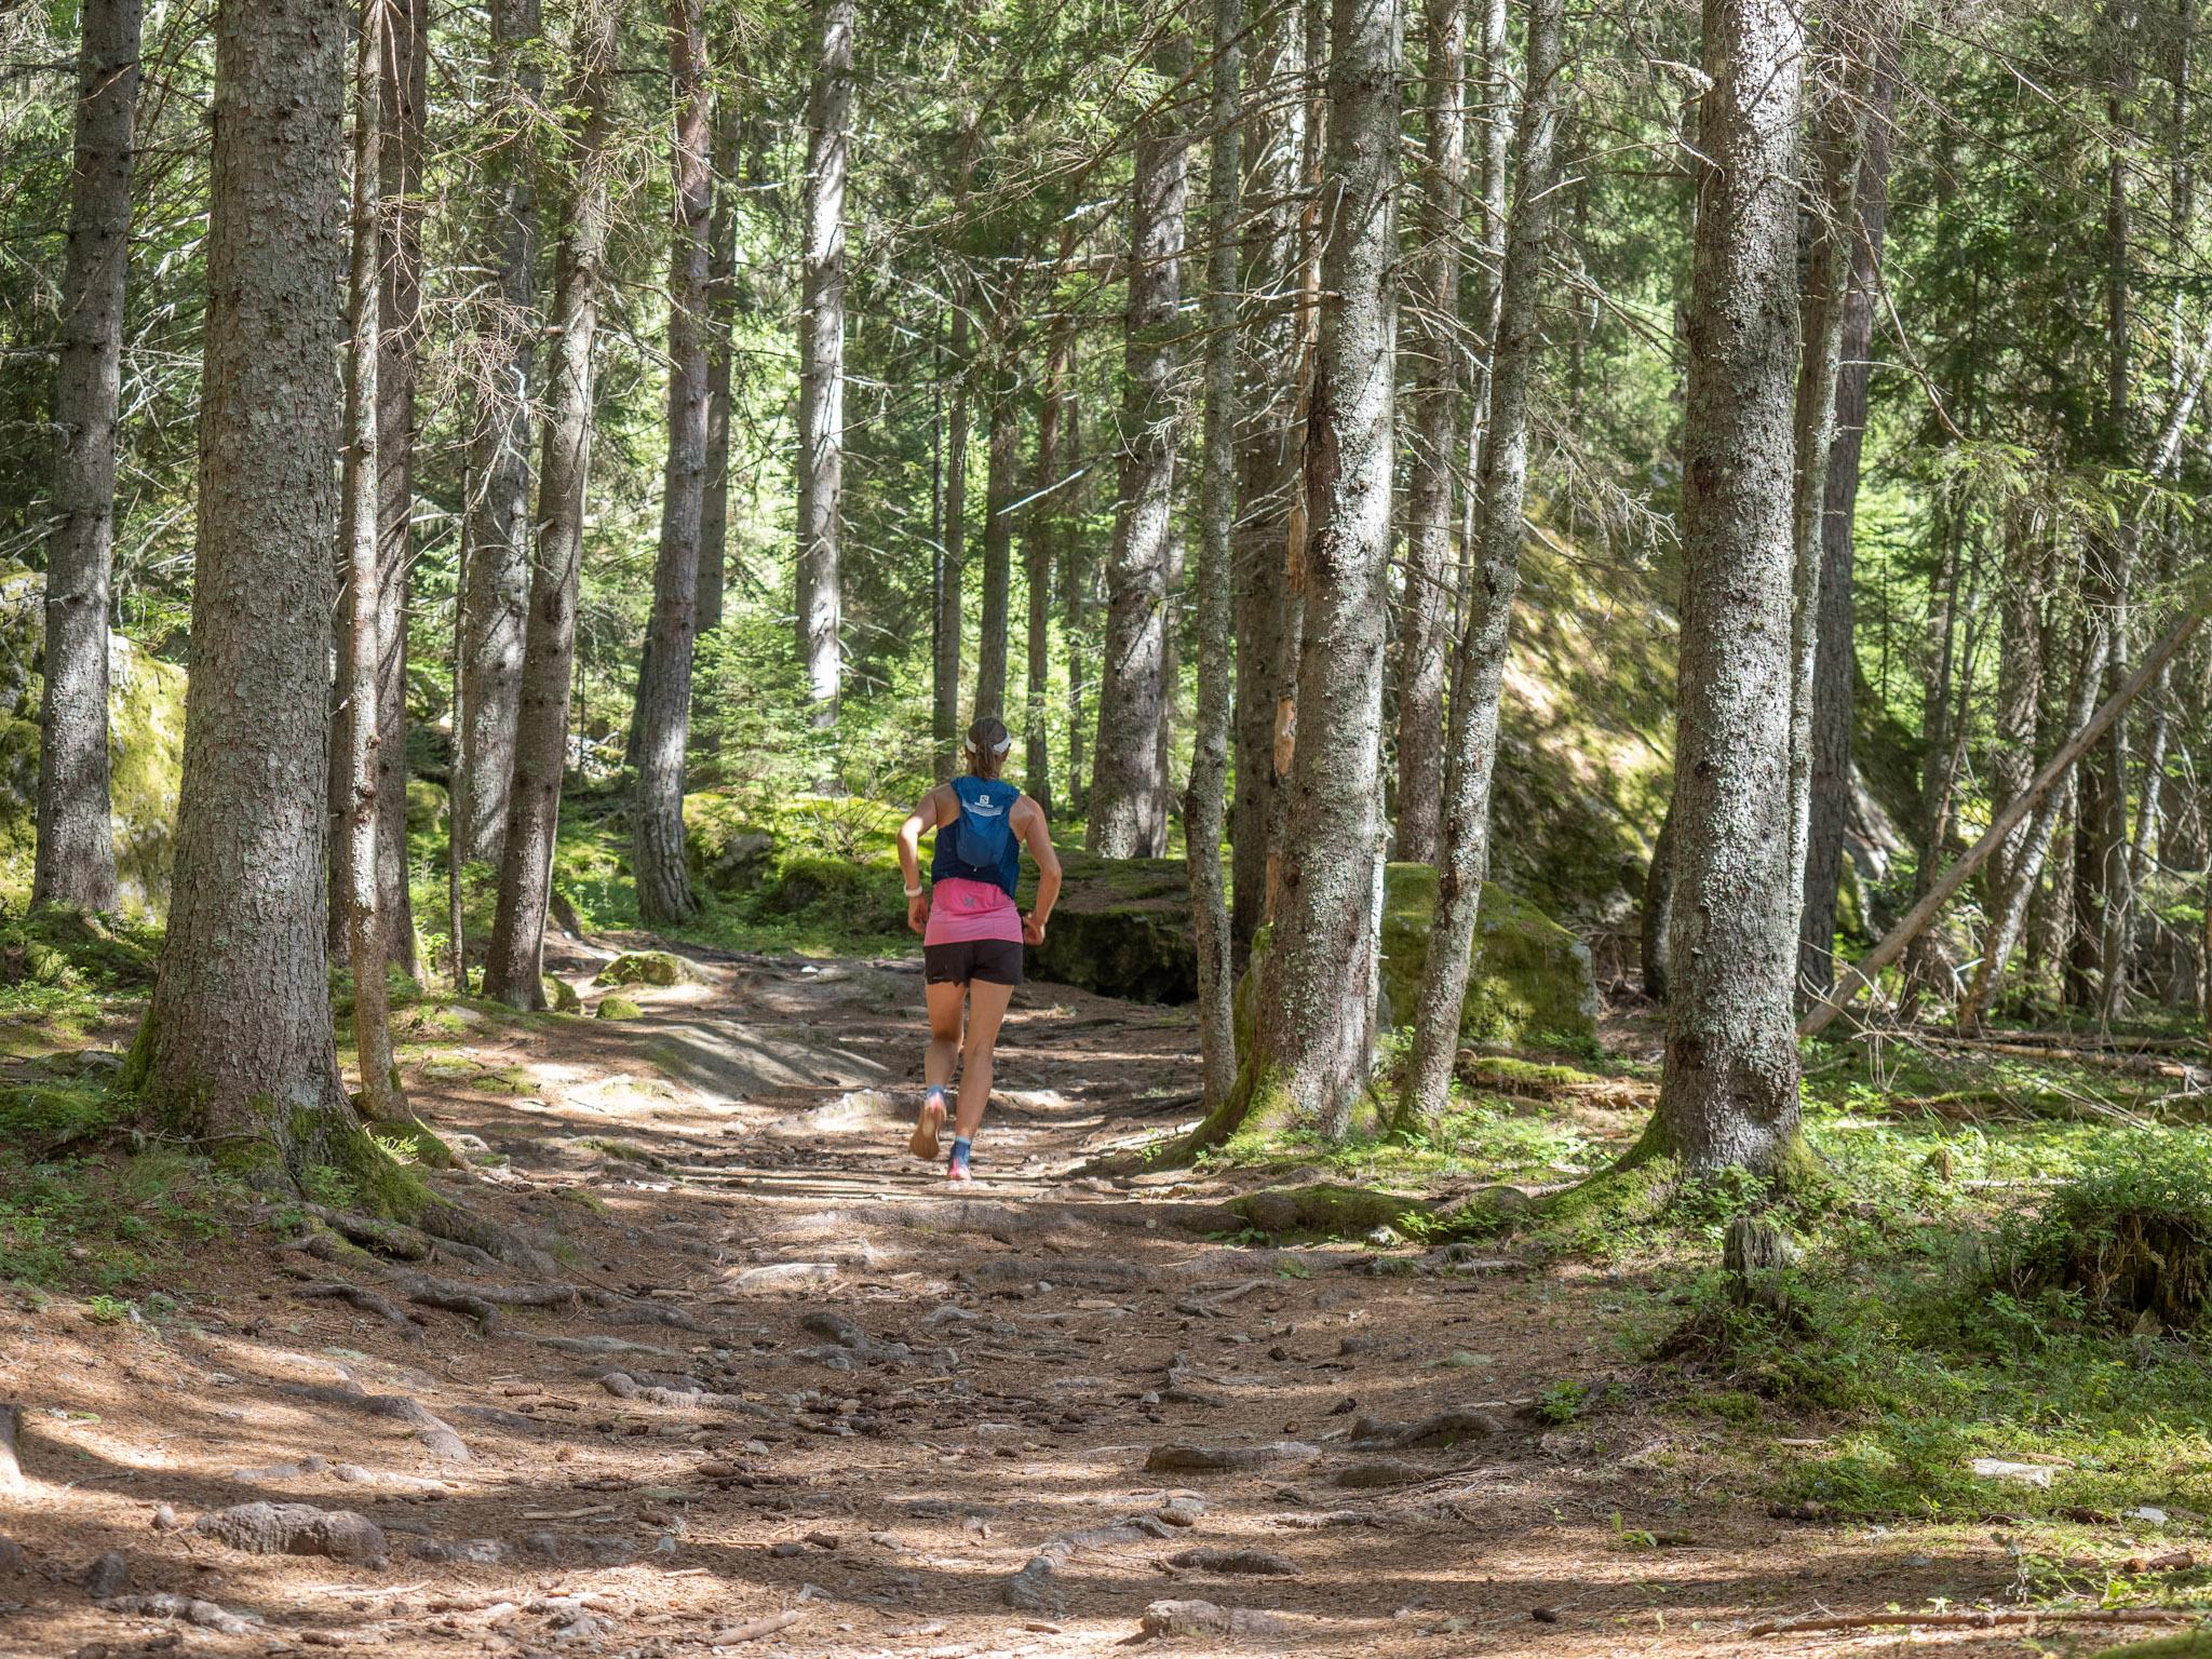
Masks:
[[[1520,179],[1506,221],[1506,265],[1491,352],[1491,411],[1482,445],[1482,518],[1467,633],[1451,672],[1451,752],[1444,774],[1444,843],[1436,922],[1413,1011],[1413,1053],[1398,1095],[1400,1126],[1433,1121],[1451,1093],[1467,971],[1491,865],[1491,770],[1498,699],[1520,588],[1522,507],[1528,495],[1528,409],[1535,392],[1544,241],[1559,181],[1559,108],[1566,0],[1531,0],[1528,73],[1522,84]],[[1449,436],[1449,434],[1447,434]]]

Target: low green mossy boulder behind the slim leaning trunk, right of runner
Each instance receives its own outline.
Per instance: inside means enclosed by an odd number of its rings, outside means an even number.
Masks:
[[[1436,920],[1436,872],[1391,865],[1383,883],[1383,1024],[1411,1024]],[[1590,947],[1498,883],[1482,885],[1460,1040],[1579,1048],[1597,1042]]]

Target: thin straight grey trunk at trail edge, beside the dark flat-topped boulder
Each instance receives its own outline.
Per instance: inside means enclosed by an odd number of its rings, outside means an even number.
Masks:
[[[1206,179],[1206,436],[1199,462],[1199,730],[1183,794],[1190,918],[1199,956],[1199,1062],[1206,1108],[1237,1086],[1230,909],[1221,885],[1230,770],[1230,622],[1237,531],[1237,204],[1243,133],[1243,0],[1214,0],[1212,155]]]

